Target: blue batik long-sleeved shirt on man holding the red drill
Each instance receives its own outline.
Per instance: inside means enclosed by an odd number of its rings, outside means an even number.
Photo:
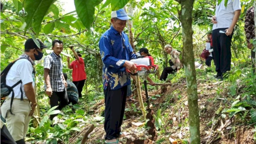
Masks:
[[[125,71],[123,65],[125,60],[136,59],[136,55],[133,53],[128,36],[124,31],[119,33],[111,26],[101,36],[99,46],[103,62],[104,89],[107,89],[108,83],[111,90],[120,89],[131,84],[130,75]]]

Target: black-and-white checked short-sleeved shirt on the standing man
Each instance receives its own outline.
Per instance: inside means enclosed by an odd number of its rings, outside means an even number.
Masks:
[[[57,56],[54,52],[47,55],[44,58],[44,68],[50,69],[50,83],[53,92],[63,92],[64,83],[62,79],[62,60],[60,56]],[[46,85],[45,85],[46,90]]]

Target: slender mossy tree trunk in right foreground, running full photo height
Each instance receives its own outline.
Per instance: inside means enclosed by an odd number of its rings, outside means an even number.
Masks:
[[[181,0],[180,3],[181,12],[179,13],[179,17],[182,25],[184,68],[187,79],[190,143],[200,144],[200,121],[192,38],[192,10],[194,0]]]

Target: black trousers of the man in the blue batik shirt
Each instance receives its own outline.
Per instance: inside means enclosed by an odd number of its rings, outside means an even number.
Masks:
[[[124,118],[124,109],[126,102],[127,86],[117,90],[111,90],[110,84],[105,95],[105,122],[104,129],[106,132],[105,139],[112,140],[119,137],[121,125]]]

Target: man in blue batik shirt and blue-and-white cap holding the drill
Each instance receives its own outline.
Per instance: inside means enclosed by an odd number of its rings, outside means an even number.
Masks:
[[[131,84],[126,68],[133,71],[136,59],[124,33],[127,16],[124,9],[111,12],[112,26],[100,38],[100,54],[103,62],[102,78],[105,94],[105,143],[117,143],[124,117],[127,85]]]

